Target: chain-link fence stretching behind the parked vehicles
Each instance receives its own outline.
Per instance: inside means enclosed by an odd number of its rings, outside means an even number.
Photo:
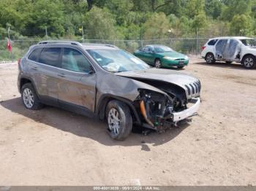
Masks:
[[[147,44],[164,44],[173,48],[177,52],[184,54],[197,55],[200,53],[200,47],[207,42],[208,38],[170,38],[170,39],[151,39],[151,40],[102,40],[102,39],[84,39],[78,40],[81,43],[100,43],[113,44],[128,52],[135,52],[140,47]],[[77,41],[77,40],[76,40]],[[39,40],[12,40],[12,52],[7,50],[7,40],[0,40],[0,62],[17,61],[21,58],[33,44]]]

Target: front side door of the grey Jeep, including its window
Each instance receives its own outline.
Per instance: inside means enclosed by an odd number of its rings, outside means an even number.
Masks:
[[[96,74],[83,52],[64,47],[59,76],[60,106],[94,112]]]

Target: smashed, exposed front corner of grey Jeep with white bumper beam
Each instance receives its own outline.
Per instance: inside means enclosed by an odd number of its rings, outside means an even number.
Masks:
[[[143,126],[158,132],[188,120],[189,117],[197,114],[200,107],[199,96],[181,100],[170,93],[164,95],[151,90],[139,90],[139,92],[140,95],[136,99],[139,104],[136,105],[145,122]]]

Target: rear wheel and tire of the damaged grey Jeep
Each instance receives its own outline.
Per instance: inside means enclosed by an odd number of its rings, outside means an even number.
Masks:
[[[40,103],[37,93],[31,83],[26,83],[21,87],[21,98],[26,109],[42,109],[43,104]]]

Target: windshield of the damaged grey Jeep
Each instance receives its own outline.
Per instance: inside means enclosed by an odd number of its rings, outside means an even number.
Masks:
[[[103,69],[110,72],[148,69],[150,66],[124,50],[87,50]]]

